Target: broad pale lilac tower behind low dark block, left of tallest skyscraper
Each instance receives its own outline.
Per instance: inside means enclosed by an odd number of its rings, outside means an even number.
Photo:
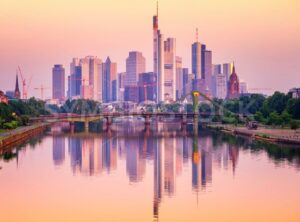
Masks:
[[[129,52],[126,59],[126,86],[137,85],[139,74],[146,71],[146,59],[141,52]]]

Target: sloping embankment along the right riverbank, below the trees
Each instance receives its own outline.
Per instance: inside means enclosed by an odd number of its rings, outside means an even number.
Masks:
[[[244,126],[233,125],[208,125],[207,128],[218,130],[231,135],[250,137],[259,141],[269,143],[280,143],[300,146],[300,131],[291,129],[260,127],[250,130]]]

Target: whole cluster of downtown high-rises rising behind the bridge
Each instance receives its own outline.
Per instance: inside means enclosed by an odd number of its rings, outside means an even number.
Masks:
[[[109,57],[105,62],[94,56],[74,58],[70,64],[67,98],[103,103],[175,102],[193,90],[219,99],[238,98],[248,93],[247,83],[239,82],[232,63],[213,65],[213,53],[199,42],[198,30],[191,46],[191,70],[184,68],[182,57],[176,54],[176,39],[164,40],[158,21],[157,11],[153,16],[153,72],[146,72],[146,58],[139,51],[129,52],[126,71],[118,74],[117,64]],[[63,73],[62,65],[54,66],[55,99],[64,98]]]

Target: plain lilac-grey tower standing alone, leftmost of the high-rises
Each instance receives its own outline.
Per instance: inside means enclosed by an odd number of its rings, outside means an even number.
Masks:
[[[63,65],[54,65],[52,68],[52,98],[65,99],[65,68]]]

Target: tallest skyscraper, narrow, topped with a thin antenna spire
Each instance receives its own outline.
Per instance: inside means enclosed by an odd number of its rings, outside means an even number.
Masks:
[[[157,14],[153,16],[153,65],[154,73],[157,76],[157,102],[163,101],[164,92],[164,40],[163,35],[158,29],[158,5]]]

